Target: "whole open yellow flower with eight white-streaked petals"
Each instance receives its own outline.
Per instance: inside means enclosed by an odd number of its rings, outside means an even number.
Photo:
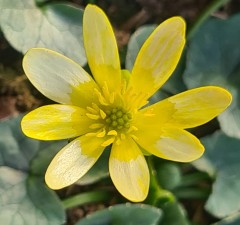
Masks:
[[[85,9],[83,35],[94,80],[80,65],[54,51],[35,48],[25,55],[23,68],[29,80],[61,104],[33,110],[23,118],[22,129],[41,140],[75,138],[49,165],[45,179],[50,188],[76,182],[112,144],[109,171],[114,185],[129,200],[143,201],[149,171],[141,149],[179,162],[199,158],[204,147],[184,129],[217,116],[230,104],[231,95],[208,86],[144,107],[181,56],[185,22],[180,17],[155,29],[142,46],[131,75],[120,69],[113,30],[96,6]]]

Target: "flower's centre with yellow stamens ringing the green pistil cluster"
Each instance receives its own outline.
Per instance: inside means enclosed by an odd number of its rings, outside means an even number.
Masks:
[[[132,124],[131,107],[126,107],[123,93],[109,92],[105,83],[102,90],[94,89],[98,103],[92,103],[87,107],[86,116],[92,120],[89,128],[92,132],[87,135],[104,138],[102,146],[113,142],[120,143],[126,135],[135,137],[132,133],[137,128]],[[131,113],[130,113],[131,112]]]

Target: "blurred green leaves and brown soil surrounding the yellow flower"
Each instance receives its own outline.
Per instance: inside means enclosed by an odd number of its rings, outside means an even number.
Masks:
[[[219,85],[233,95],[217,119],[190,131],[206,152],[192,164],[154,158],[154,191],[143,204],[126,203],[108,175],[109,151],[77,184],[54,192],[44,173],[64,141],[27,138],[22,115],[51,103],[26,79],[23,54],[46,47],[88,69],[82,15],[97,4],[114,27],[122,67],[135,57],[157,24],[182,16],[187,44],[176,71],[151,103],[181,91]],[[240,1],[233,0],[0,0],[0,221],[9,225],[239,225],[240,224]],[[90,214],[90,215],[89,215]]]

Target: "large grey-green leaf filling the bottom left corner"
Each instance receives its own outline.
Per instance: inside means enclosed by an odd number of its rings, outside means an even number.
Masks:
[[[0,221],[8,225],[56,225],[65,218],[57,196],[42,180],[0,167]]]

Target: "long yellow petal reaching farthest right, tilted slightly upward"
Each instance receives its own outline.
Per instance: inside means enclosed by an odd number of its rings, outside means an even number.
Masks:
[[[154,129],[165,126],[192,128],[218,116],[229,106],[231,100],[231,94],[223,88],[195,88],[141,110],[138,118],[136,117],[137,123],[139,128],[143,127],[141,129],[150,124],[153,124]],[[141,121],[144,121],[144,124],[141,125]]]

